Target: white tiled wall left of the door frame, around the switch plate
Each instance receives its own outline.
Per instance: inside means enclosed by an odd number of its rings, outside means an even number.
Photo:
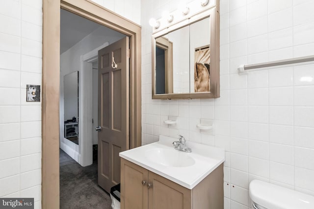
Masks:
[[[0,0],[0,197],[33,197],[41,208],[42,1]]]

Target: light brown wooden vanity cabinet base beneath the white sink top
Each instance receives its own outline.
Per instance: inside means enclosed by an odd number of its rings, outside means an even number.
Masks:
[[[188,189],[122,158],[121,209],[223,209],[223,166]]]

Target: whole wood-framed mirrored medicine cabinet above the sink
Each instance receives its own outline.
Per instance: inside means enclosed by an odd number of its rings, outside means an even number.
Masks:
[[[216,7],[153,33],[152,98],[219,97]]]

